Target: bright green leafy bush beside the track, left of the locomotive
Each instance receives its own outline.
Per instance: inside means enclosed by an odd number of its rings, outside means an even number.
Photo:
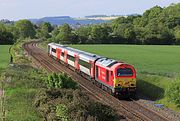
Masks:
[[[48,88],[77,88],[77,83],[66,73],[50,74],[46,80]]]

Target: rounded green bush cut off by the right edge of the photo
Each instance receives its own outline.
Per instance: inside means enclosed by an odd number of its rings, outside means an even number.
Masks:
[[[180,80],[176,80],[168,86],[166,95],[170,102],[180,107]]]

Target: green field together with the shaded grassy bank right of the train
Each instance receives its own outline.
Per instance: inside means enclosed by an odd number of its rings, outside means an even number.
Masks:
[[[166,97],[168,86],[180,77],[180,47],[151,45],[71,45],[71,47],[134,65],[138,91],[179,110]]]

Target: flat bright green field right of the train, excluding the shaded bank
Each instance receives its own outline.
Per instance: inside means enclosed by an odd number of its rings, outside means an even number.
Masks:
[[[72,45],[72,47],[130,63],[135,66],[138,74],[180,75],[179,46]]]

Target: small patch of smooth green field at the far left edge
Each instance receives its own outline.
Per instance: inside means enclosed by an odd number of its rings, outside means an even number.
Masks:
[[[0,70],[6,68],[10,62],[10,46],[11,45],[0,45]]]

